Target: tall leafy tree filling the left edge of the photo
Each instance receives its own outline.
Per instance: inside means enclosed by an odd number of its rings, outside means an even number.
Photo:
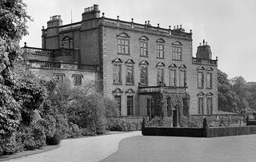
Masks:
[[[0,136],[7,138],[18,128],[22,116],[26,121],[31,111],[42,104],[45,89],[23,66],[18,45],[28,34],[26,22],[31,20],[25,3],[2,0],[0,9]]]

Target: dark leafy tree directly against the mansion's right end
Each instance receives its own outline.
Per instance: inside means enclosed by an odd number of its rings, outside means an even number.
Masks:
[[[222,111],[239,113],[239,97],[227,78],[226,73],[218,69],[218,108]]]

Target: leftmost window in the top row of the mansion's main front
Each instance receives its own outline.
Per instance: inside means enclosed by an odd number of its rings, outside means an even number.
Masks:
[[[118,53],[130,53],[130,36],[126,33],[118,34]]]

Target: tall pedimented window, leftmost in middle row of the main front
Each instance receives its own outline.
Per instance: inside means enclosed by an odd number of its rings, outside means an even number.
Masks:
[[[122,84],[122,60],[116,58],[113,61],[113,83]]]

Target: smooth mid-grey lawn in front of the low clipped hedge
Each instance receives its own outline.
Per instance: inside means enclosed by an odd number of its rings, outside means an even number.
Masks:
[[[194,138],[133,136],[123,139],[118,152],[102,162],[113,161],[256,161],[256,135]]]

